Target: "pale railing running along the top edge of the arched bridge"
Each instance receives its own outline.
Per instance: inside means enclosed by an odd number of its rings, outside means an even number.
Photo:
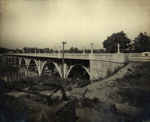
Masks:
[[[116,53],[65,53],[64,58],[112,61],[114,54]],[[12,53],[4,55],[22,57],[62,58],[62,53]],[[141,53],[124,53],[124,56],[126,58],[124,60],[127,61],[150,61],[149,56],[141,56]]]

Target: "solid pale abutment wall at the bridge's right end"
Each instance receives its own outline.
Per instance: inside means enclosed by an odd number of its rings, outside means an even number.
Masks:
[[[102,60],[90,60],[90,80],[104,78],[109,72],[124,66],[124,63],[128,61],[127,57],[124,53],[116,53],[113,54],[111,61],[106,60],[104,56]]]

